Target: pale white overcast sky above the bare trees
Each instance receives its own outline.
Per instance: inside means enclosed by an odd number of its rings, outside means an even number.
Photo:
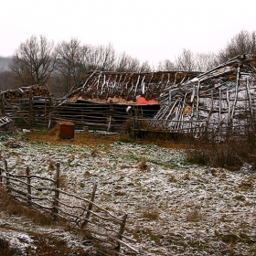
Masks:
[[[256,30],[256,0],[1,0],[0,56],[43,35],[76,37],[157,65],[183,48],[217,52],[241,29]]]

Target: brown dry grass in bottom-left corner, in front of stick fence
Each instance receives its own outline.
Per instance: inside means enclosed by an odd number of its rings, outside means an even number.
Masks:
[[[0,237],[0,255],[1,256],[13,256],[13,255],[84,255],[84,256],[97,256],[101,255],[101,241],[93,240],[89,236],[88,231],[74,229],[69,226],[65,220],[58,219],[53,221],[53,218],[48,213],[43,213],[36,208],[27,207],[27,205],[18,202],[10,197],[5,187],[0,185],[0,210],[2,214],[10,217],[19,217],[20,222],[24,222],[27,225],[27,221],[32,221],[35,225],[39,225],[40,228],[48,228],[50,231],[40,232],[37,230],[27,230],[27,235],[33,237],[33,246],[36,249],[31,251],[31,246],[28,246],[26,251],[20,251],[19,248],[12,247],[9,240]],[[1,227],[2,228],[2,227]],[[52,229],[62,229],[69,231],[78,237],[83,238],[83,242],[88,243],[88,250],[81,248],[70,248],[68,240],[64,240],[61,234],[58,236],[52,232]],[[3,228],[5,229],[5,228]],[[19,230],[12,227],[14,230]],[[11,231],[8,227],[8,230]],[[22,231],[22,230],[21,230]],[[53,233],[53,234],[52,234]],[[107,251],[107,250],[106,250]],[[25,254],[24,254],[25,253]],[[104,255],[104,254],[102,254]]]

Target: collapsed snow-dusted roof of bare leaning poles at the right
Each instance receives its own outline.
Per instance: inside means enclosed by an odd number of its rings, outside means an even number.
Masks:
[[[217,129],[243,133],[255,114],[255,96],[256,55],[244,54],[166,89],[152,124],[195,136]]]

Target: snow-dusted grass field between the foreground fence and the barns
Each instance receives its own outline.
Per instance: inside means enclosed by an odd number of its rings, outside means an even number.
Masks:
[[[53,177],[60,162],[65,190],[84,196],[97,183],[95,202],[128,214],[141,255],[256,255],[255,174],[190,165],[185,150],[155,144],[9,142],[0,142],[1,159],[13,172],[28,165]],[[6,221],[0,215],[2,235]]]

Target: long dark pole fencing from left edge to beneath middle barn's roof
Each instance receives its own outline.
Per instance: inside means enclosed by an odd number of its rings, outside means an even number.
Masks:
[[[61,104],[59,104],[59,102]],[[94,131],[123,132],[125,122],[131,118],[152,119],[158,105],[133,105],[126,112],[127,105],[112,102],[97,103],[54,99],[50,97],[29,97],[26,99],[5,99],[0,97],[1,113],[11,118],[18,128],[48,129],[59,121],[75,124],[75,129],[88,127]]]

